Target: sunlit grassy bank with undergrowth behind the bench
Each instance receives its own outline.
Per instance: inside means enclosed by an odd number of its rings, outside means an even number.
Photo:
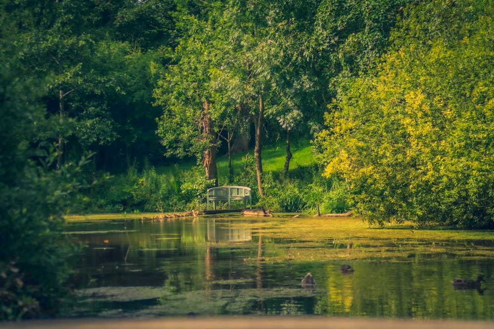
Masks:
[[[315,213],[316,202],[322,212],[343,213],[342,185],[323,182],[309,141],[291,147],[293,157],[288,176],[284,175],[286,146],[265,146],[263,160],[264,198],[259,197],[253,151],[232,156],[233,177],[228,180],[228,156],[217,159],[219,185],[242,185],[252,189],[252,204],[274,212]],[[317,184],[317,186],[315,185]],[[155,168],[131,166],[126,173],[115,175],[95,186],[86,196],[81,209],[74,213],[177,213],[206,209],[206,189],[213,186],[205,178],[204,168],[195,161]],[[337,188],[335,189],[334,186]],[[316,195],[317,194],[317,195]]]

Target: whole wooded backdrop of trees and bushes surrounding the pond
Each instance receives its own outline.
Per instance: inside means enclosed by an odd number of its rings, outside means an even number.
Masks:
[[[64,214],[217,184],[493,228],[493,29],[488,0],[2,0],[1,318],[58,312]]]

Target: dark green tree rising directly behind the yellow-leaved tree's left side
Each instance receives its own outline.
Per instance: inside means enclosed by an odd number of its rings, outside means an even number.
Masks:
[[[309,83],[304,104],[312,133],[322,128],[328,105],[347,78],[370,72],[389,45],[389,34],[407,3],[415,0],[322,0],[306,46]]]

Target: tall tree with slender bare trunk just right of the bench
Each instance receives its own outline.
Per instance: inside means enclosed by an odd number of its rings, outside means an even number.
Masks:
[[[266,116],[286,114],[293,104],[297,84],[293,82],[293,58],[301,51],[304,38],[297,31],[293,3],[299,1],[230,1],[223,11],[228,24],[231,50],[225,68],[231,73],[231,98],[246,109],[254,124],[257,186],[262,188],[262,144]],[[290,67],[291,65],[291,67]],[[282,113],[283,112],[283,113]]]

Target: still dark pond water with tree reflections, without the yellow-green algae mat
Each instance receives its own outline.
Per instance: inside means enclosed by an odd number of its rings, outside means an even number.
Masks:
[[[69,222],[72,239],[86,245],[73,258],[77,301],[69,316],[494,319],[494,260],[489,257],[459,257],[454,249],[352,257],[346,250],[356,246],[279,237],[270,232],[280,221],[266,220]],[[385,248],[387,242],[381,243]],[[362,253],[367,247],[359,248]],[[493,240],[483,248],[493,249]],[[329,256],[318,257],[323,252]],[[341,273],[344,263],[355,271]],[[304,288],[300,281],[308,272],[316,283]],[[478,274],[487,281],[481,289],[453,289],[454,277]]]

